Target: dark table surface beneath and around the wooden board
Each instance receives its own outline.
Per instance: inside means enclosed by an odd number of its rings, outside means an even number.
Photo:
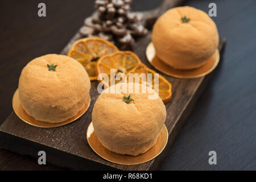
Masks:
[[[38,17],[44,2],[47,17]],[[133,2],[133,10],[149,10],[158,0]],[[256,169],[256,1],[193,0],[185,5],[209,11],[217,5],[216,22],[226,37],[223,63],[200,97],[191,117],[164,159],[161,170]],[[22,68],[47,53],[59,53],[93,12],[92,0],[0,2],[0,124],[11,113],[11,100]],[[209,165],[209,151],[217,165]],[[60,170],[39,166],[30,156],[0,150],[2,170]]]

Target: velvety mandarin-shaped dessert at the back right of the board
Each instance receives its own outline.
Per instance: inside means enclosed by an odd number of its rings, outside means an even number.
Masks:
[[[152,43],[156,56],[176,69],[199,68],[218,47],[216,24],[204,11],[175,7],[156,21]]]

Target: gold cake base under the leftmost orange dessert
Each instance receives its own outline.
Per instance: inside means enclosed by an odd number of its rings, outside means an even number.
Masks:
[[[58,126],[67,125],[68,123],[76,121],[76,119],[80,118],[85,113],[85,111],[89,108],[89,106],[90,106],[90,97],[88,101],[86,101],[82,109],[74,117],[60,123],[48,123],[48,122],[38,121],[26,113],[26,111],[23,109],[20,103],[18,89],[15,91],[13,96],[13,110],[15,114],[18,115],[18,117],[22,121],[37,127],[58,127]]]

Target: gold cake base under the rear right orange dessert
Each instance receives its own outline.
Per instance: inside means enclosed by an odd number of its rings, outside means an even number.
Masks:
[[[146,56],[147,60],[150,64],[158,69],[158,71],[175,78],[198,78],[205,76],[213,71],[214,68],[217,67],[218,62],[220,61],[220,52],[218,49],[214,52],[213,56],[206,61],[206,63],[195,69],[175,69],[172,68],[170,65],[161,61],[155,53],[154,44],[151,42],[148,44],[146,49]]]

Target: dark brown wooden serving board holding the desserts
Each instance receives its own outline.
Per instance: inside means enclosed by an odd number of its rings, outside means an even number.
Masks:
[[[176,6],[178,2],[180,1],[164,1],[159,9],[144,12],[144,14],[154,16],[156,14],[160,15],[170,7]],[[153,14],[152,12],[157,13]],[[151,16],[152,22],[154,22],[154,16]],[[145,49],[150,42],[150,37],[151,35],[148,34],[146,37],[139,39],[134,51],[138,54],[143,63],[152,68],[148,64],[145,55]],[[80,35],[76,34],[61,53],[67,53],[72,42],[79,38]],[[225,39],[221,39],[219,47],[220,51],[224,47],[224,44]],[[166,105],[166,126],[169,132],[169,140],[167,147],[162,154],[150,162],[134,166],[118,165],[100,158],[89,147],[86,141],[86,129],[91,121],[94,102],[98,97],[97,81],[92,82],[92,89],[90,92],[92,102],[88,111],[76,122],[53,129],[42,129],[27,125],[20,121],[14,113],[11,113],[0,127],[0,146],[1,148],[18,152],[19,154],[31,155],[34,158],[38,157],[38,151],[44,150],[47,154],[48,163],[73,169],[157,169],[191,113],[197,98],[199,98],[210,78],[213,76],[213,73],[214,72],[201,78],[184,80],[164,76],[173,86],[172,100]]]

